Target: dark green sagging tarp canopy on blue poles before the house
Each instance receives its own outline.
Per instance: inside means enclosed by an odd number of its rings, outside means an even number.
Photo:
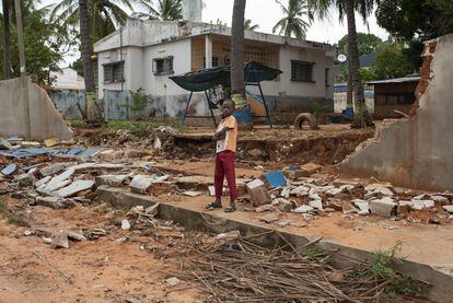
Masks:
[[[177,85],[190,92],[204,92],[217,85],[230,86],[230,66],[204,69],[170,77]],[[276,79],[281,73],[259,62],[251,61],[244,67],[245,83],[259,83]]]

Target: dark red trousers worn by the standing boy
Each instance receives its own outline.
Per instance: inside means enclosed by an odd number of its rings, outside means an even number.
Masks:
[[[226,177],[230,199],[237,199],[236,176],[234,173],[234,152],[223,151],[216,154],[214,187],[216,198],[220,199],[223,191],[223,178]]]

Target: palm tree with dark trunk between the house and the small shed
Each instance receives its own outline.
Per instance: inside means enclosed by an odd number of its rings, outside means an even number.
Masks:
[[[307,0],[310,15],[317,14],[320,19],[328,15],[330,7],[338,9],[340,20],[346,15],[348,22],[348,86],[352,88],[352,95],[356,104],[356,112],[352,127],[370,125],[371,120],[364,105],[363,84],[360,78],[359,47],[357,43],[356,15],[359,12],[363,21],[373,12],[375,3],[380,0]],[[348,100],[349,103],[349,100]]]

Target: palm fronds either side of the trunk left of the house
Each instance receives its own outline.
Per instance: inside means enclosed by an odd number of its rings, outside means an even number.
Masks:
[[[91,21],[90,36],[92,42],[96,42],[106,35],[115,32],[119,25],[127,21],[128,13],[123,9],[127,8],[133,11],[133,0],[90,0],[88,2],[88,12]],[[77,27],[80,21],[78,0],[60,0],[55,5],[51,14],[51,21],[60,21],[62,30],[68,32],[69,28]]]

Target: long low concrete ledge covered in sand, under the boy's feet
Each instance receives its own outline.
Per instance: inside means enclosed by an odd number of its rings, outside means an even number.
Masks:
[[[294,224],[280,228],[278,222],[266,224],[259,222],[262,213],[254,211],[237,211],[224,213],[223,210],[206,211],[205,203],[209,202],[209,196],[195,198],[167,197],[165,195],[152,198],[150,196],[128,193],[120,188],[102,186],[97,190],[98,199],[115,207],[129,209],[133,206],[152,206],[159,200],[159,218],[173,220],[186,228],[223,233],[239,230],[242,235],[267,234],[255,238],[259,244],[275,243],[278,235],[271,233],[278,231],[291,244],[303,252],[303,246],[313,238],[323,237],[318,242],[321,248],[335,252],[333,259],[338,265],[349,266],[358,260],[370,259],[376,250],[386,250],[399,241],[403,241],[402,256],[406,259],[397,265],[397,270],[408,273],[419,280],[432,284],[429,293],[434,302],[450,302],[453,289],[453,226],[451,225],[421,225],[405,226],[402,222],[393,222],[398,229],[386,230],[386,219],[376,220],[368,218],[369,222],[361,225],[361,230],[341,226],[344,218],[341,213],[333,213],[330,217],[321,217],[309,224],[303,223],[302,214],[281,213],[280,220],[293,221]],[[240,207],[242,208],[242,207]],[[360,217],[360,220],[364,220]],[[298,228],[297,225],[306,228]]]

